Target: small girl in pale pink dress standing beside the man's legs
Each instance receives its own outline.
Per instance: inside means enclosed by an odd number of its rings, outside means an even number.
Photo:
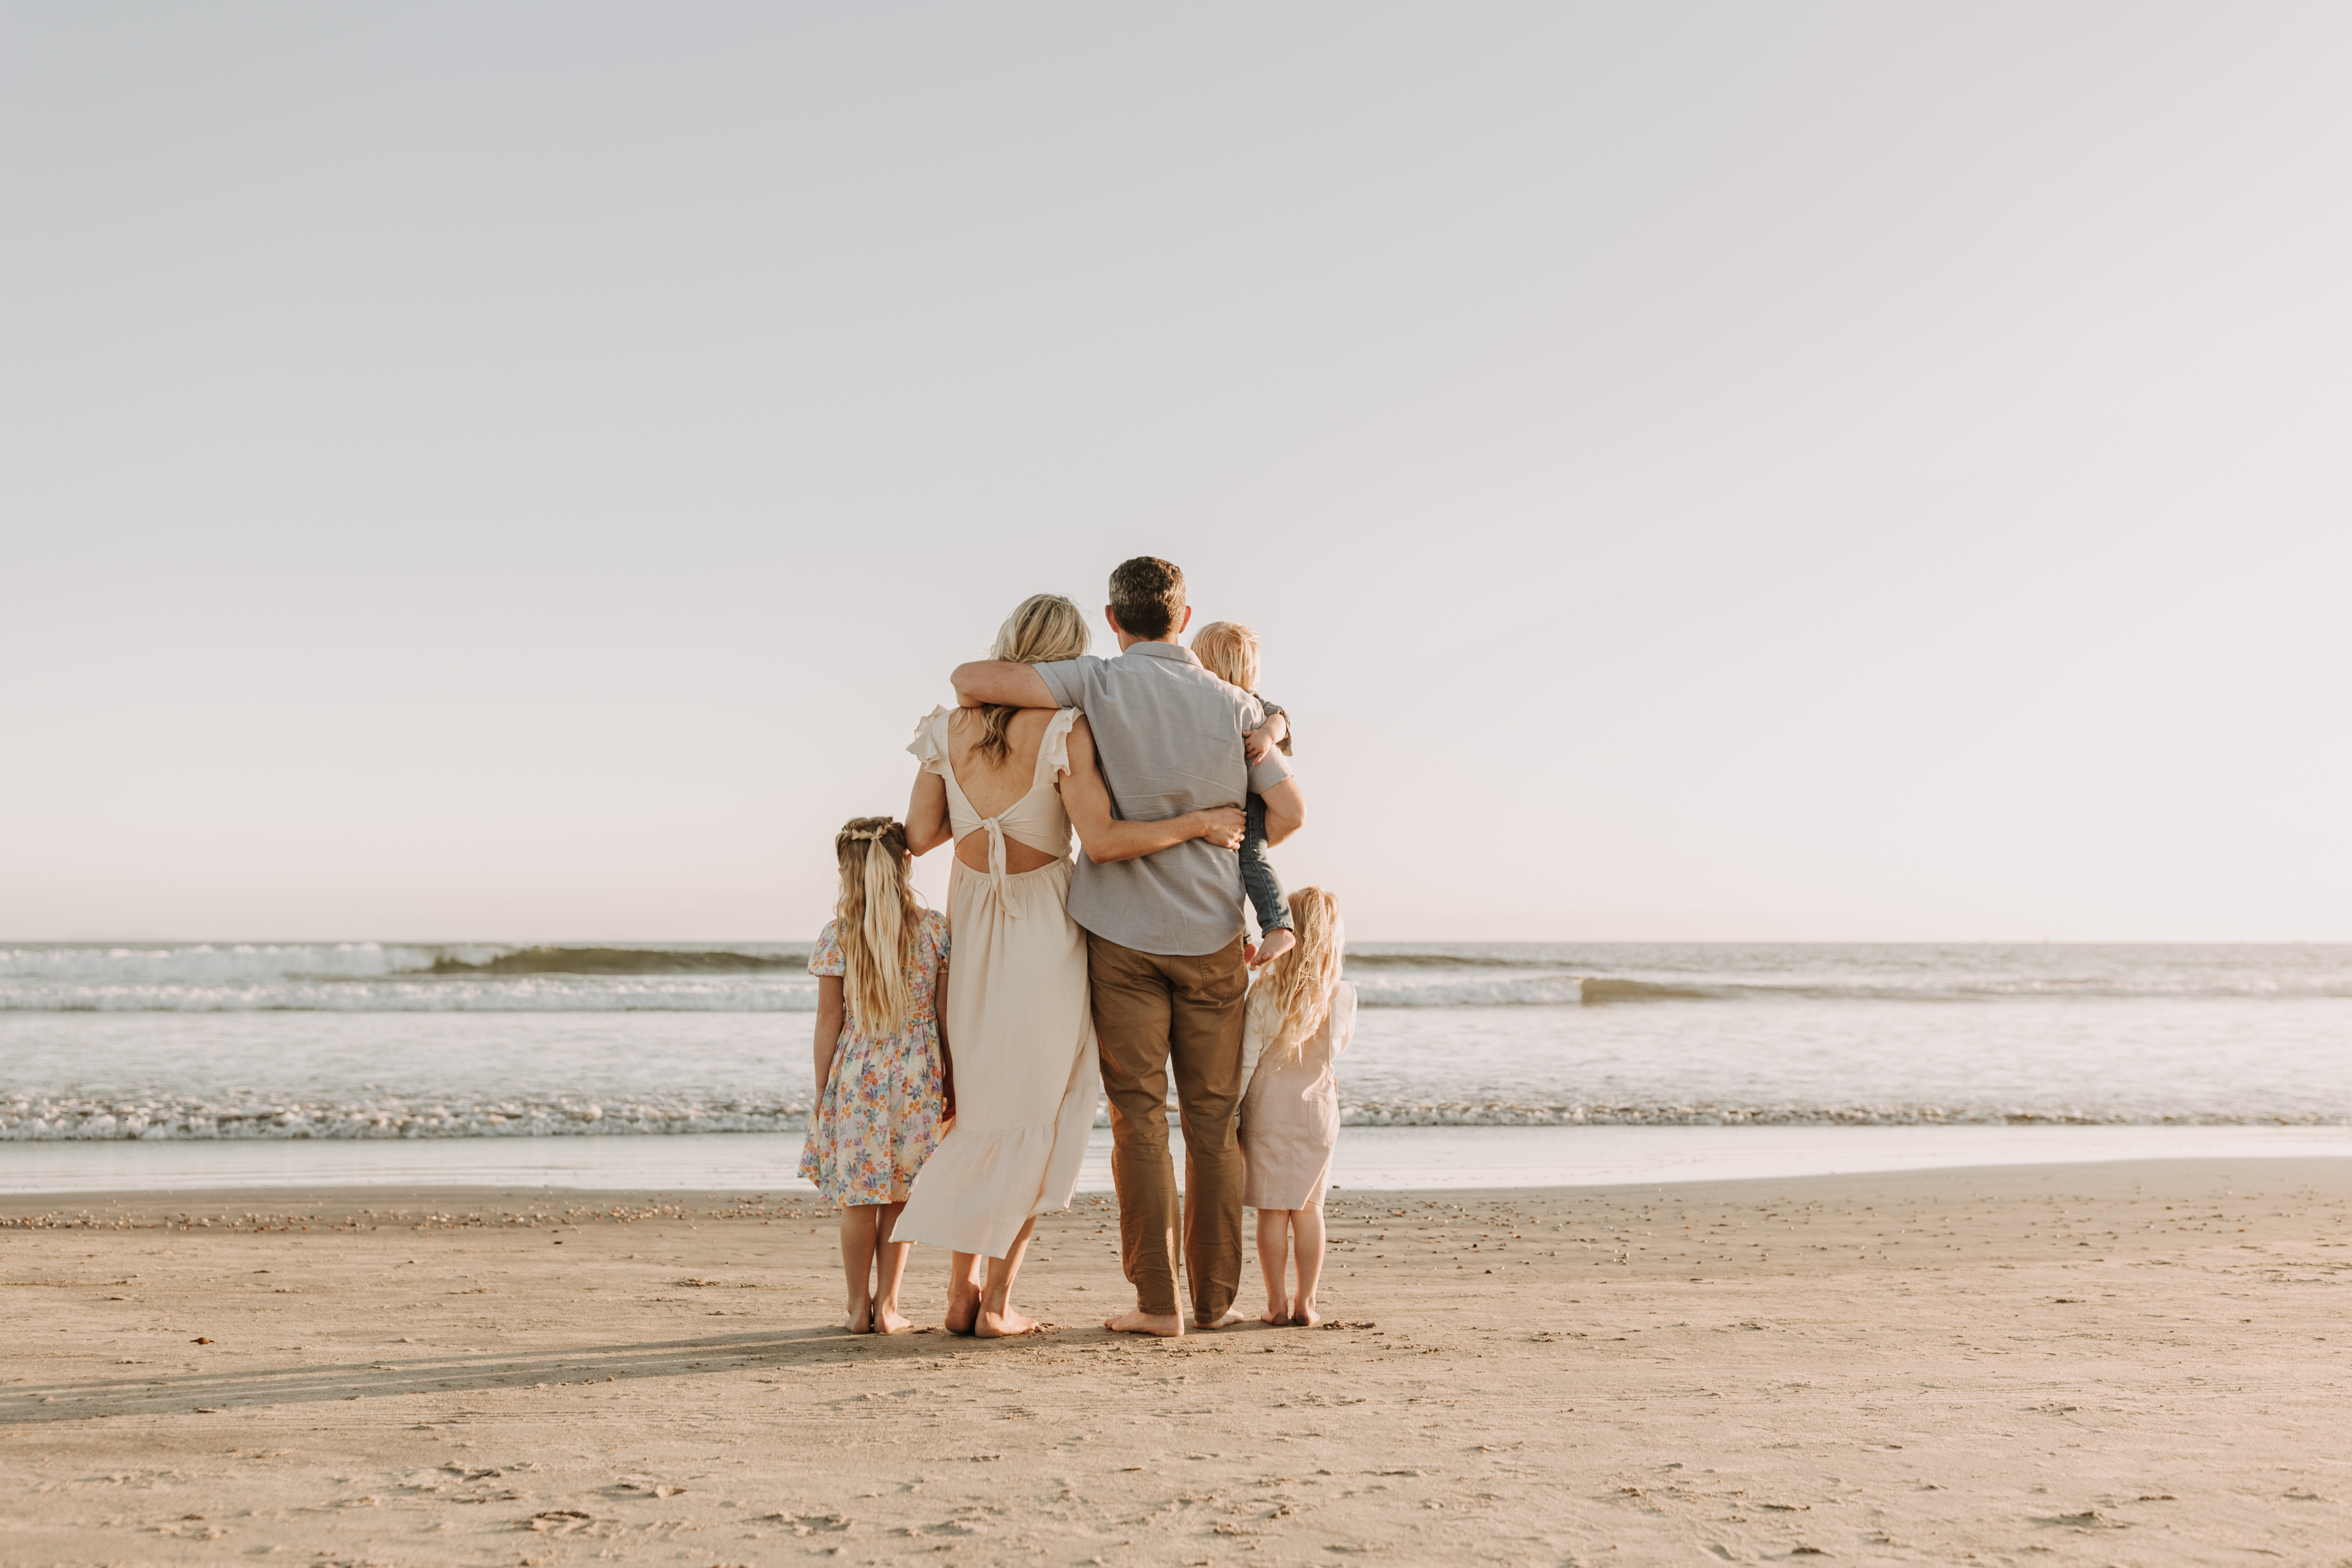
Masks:
[[[1355,987],[1338,978],[1348,931],[1324,889],[1291,893],[1298,945],[1258,971],[1242,1027],[1242,1204],[1258,1211],[1268,1324],[1322,1321],[1322,1194],[1338,1147],[1334,1060],[1355,1034]],[[1291,1255],[1296,1295],[1284,1288]]]

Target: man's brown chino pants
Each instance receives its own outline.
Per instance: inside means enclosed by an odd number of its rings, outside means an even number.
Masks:
[[[1087,933],[1094,1041],[1110,1098],[1110,1180],[1120,1190],[1120,1260],[1143,1312],[1174,1314],[1176,1232],[1192,1316],[1214,1324],[1242,1288],[1242,938],[1200,957],[1120,947]],[[1169,1159],[1169,1072],[1183,1114],[1183,1192]]]

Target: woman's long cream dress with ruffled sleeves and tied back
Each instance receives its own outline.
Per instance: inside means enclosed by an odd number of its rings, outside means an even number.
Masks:
[[[1101,1093],[1087,933],[1065,907],[1070,816],[1054,788],[1070,769],[1077,710],[1054,715],[1028,795],[993,818],[955,783],[948,717],[934,710],[906,750],[946,780],[955,839],[988,832],[988,870],[957,860],[948,875],[955,1121],[915,1178],[891,1239],[1002,1258],[1030,1215],[1070,1204]],[[1061,858],[1007,875],[1004,839]]]

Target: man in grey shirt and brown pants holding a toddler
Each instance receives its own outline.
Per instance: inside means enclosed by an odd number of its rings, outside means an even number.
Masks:
[[[1082,708],[1101,759],[1075,769],[1070,792],[1108,795],[1110,816],[1157,823],[1185,811],[1265,797],[1270,844],[1298,832],[1305,802],[1277,750],[1251,764],[1242,738],[1265,724],[1247,691],[1216,679],[1178,642],[1192,623],[1183,571],[1152,555],[1110,574],[1103,607],[1117,658],[1049,665],[983,661],[955,672],[962,705]],[[1075,811],[1073,811],[1075,813]],[[1110,1178],[1120,1192],[1120,1255],[1136,1309],[1120,1333],[1181,1335],[1176,1234],[1192,1281],[1192,1324],[1242,1321],[1242,1004],[1249,964],[1242,865],[1230,839],[1190,839],[1136,860],[1080,856],[1070,919],[1087,931],[1094,1034],[1110,1098]],[[1185,1194],[1176,1199],[1167,1091],[1176,1074]]]

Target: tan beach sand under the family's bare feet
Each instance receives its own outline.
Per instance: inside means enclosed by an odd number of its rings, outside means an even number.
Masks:
[[[1096,1326],[1084,1197],[1061,1328],[976,1342],[842,1333],[807,1197],[0,1199],[0,1561],[2343,1563],[2347,1206],[2347,1159],[1341,1192],[1331,1324],[1169,1342]]]

